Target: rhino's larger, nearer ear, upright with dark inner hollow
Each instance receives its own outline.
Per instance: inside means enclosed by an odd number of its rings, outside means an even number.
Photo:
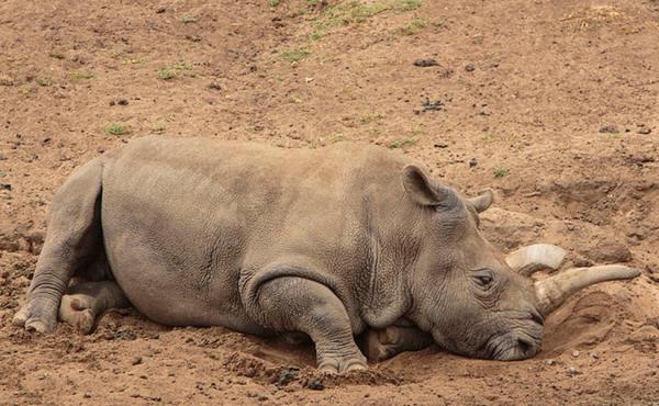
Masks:
[[[457,204],[457,195],[448,188],[436,185],[423,170],[414,165],[403,168],[403,187],[416,203],[423,206],[450,208]]]

